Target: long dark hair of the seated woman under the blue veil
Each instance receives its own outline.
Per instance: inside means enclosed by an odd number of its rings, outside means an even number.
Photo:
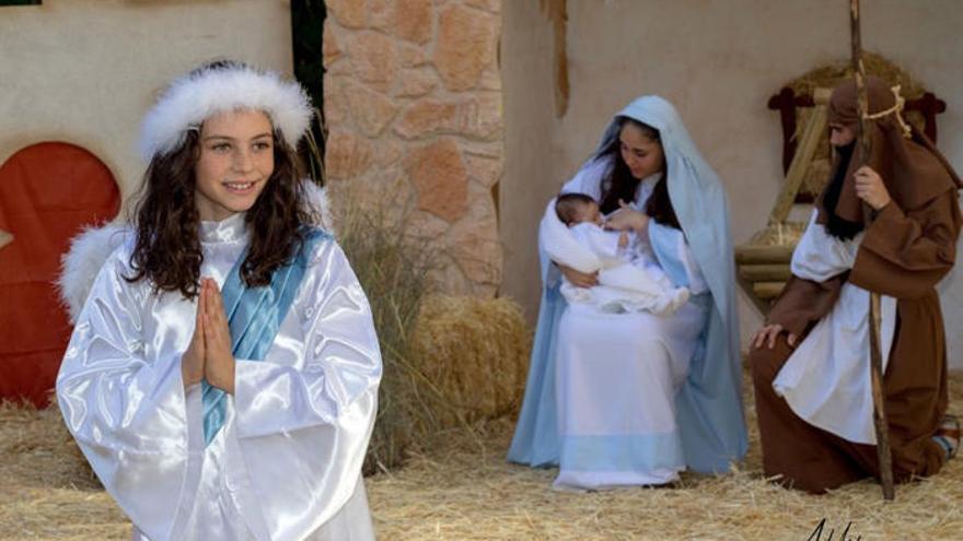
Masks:
[[[642,131],[642,134],[650,141],[661,143],[662,139],[659,134],[659,130],[655,128],[633,118],[619,117],[619,131],[626,124],[631,124],[638,127]],[[640,179],[633,176],[625,160],[622,158],[620,150],[622,140],[616,137],[615,141],[599,154],[600,157],[613,156],[614,164],[608,175],[602,179],[602,202],[599,207],[605,214],[618,210],[619,200],[633,201],[636,198],[636,190],[639,187],[639,183],[641,183]],[[668,168],[663,172],[662,178],[652,189],[652,195],[649,196],[649,200],[646,202],[645,213],[657,223],[669,225],[676,230],[682,228],[678,224],[678,217],[675,215],[675,209],[672,207],[672,200],[669,198]]]

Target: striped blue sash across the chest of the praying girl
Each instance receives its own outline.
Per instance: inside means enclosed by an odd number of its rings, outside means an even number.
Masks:
[[[328,237],[321,230],[309,228],[298,255],[275,270],[269,285],[259,287],[246,287],[241,280],[241,263],[247,257],[247,250],[241,254],[221,289],[228,326],[231,329],[231,353],[235,360],[264,360],[301,286],[314,246],[322,238]],[[204,442],[207,446],[224,424],[227,393],[204,379],[201,397]]]

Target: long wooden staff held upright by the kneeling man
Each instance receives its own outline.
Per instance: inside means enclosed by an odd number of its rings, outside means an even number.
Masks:
[[[872,142],[866,131],[866,117],[869,114],[869,102],[866,95],[866,68],[862,64],[862,44],[859,31],[859,0],[849,0],[849,31],[852,37],[852,75],[856,78],[856,99],[858,121],[856,140],[860,146],[860,165],[869,162]],[[872,222],[872,211],[862,203],[862,221],[867,227]],[[893,499],[893,459],[890,452],[890,426],[886,424],[886,409],[883,400],[883,356],[880,352],[880,294],[870,292],[869,297],[869,356],[870,379],[872,380],[873,426],[877,432],[877,457],[880,462],[880,482],[883,498]]]

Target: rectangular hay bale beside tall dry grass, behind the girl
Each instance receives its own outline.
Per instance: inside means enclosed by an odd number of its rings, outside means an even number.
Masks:
[[[513,301],[429,296],[413,345],[441,428],[518,411],[532,336]]]

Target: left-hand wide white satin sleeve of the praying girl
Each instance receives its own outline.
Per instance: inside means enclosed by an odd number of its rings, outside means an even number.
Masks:
[[[178,507],[192,506],[182,499],[193,491],[182,485],[201,451],[189,450],[188,438],[202,434],[187,422],[179,354],[146,354],[141,310],[151,292],[124,279],[125,252],[115,251],[94,281],[60,365],[57,400],[111,496],[149,537],[166,539]]]

